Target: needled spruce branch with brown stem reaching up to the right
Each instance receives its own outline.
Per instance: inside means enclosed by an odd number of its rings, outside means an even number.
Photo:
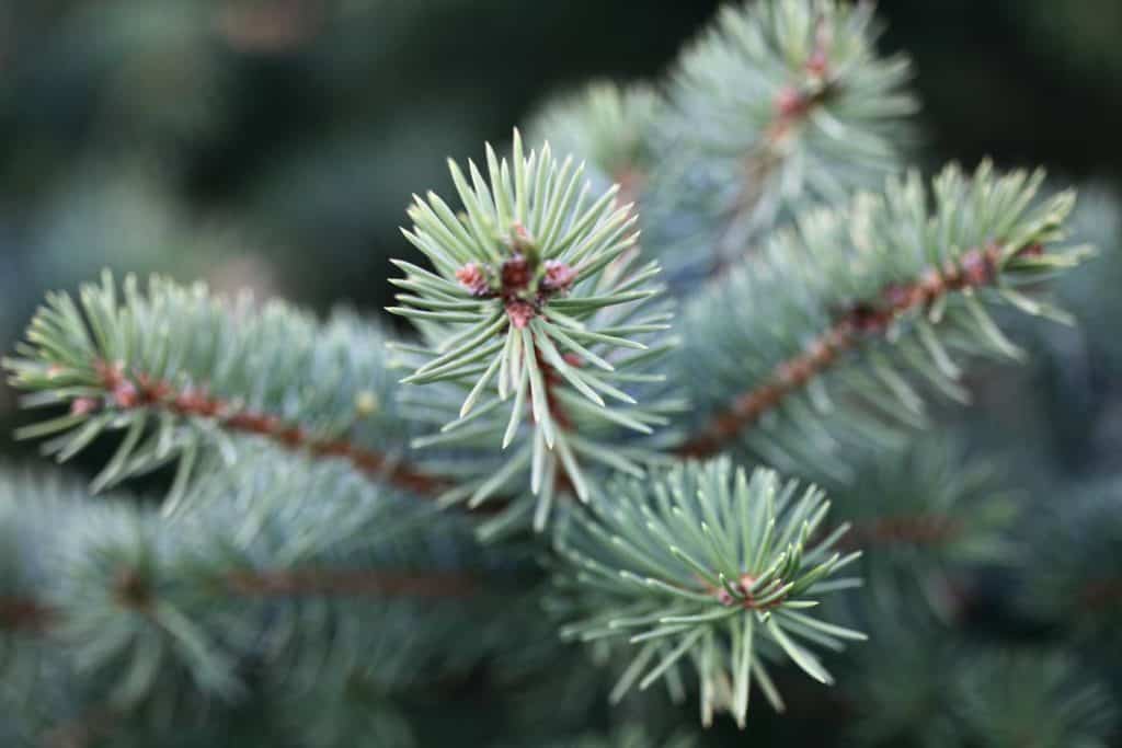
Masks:
[[[1068,318],[1034,286],[1087,248],[1058,246],[1074,195],[1034,204],[1042,178],[984,163],[929,190],[913,173],[773,236],[682,315],[677,377],[697,415],[679,452],[741,446],[846,481],[840,447],[900,444],[926,423],[925,390],[968,400],[955,353],[1022,357],[988,306]]]

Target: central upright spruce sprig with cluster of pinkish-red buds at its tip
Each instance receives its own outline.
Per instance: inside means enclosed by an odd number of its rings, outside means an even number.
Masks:
[[[577,453],[598,451],[587,437],[605,426],[652,434],[669,423],[656,404],[636,399],[661,381],[647,369],[668,350],[665,339],[654,349],[642,342],[669,330],[659,266],[640,258],[636,218],[617,204],[618,186],[591,197],[583,166],[559,163],[549,144],[526,155],[515,131],[509,161],[488,146],[487,178],[473,163],[470,177],[454,163],[450,168],[463,211],[453,213],[433,193],[417,197],[405,236],[433,269],[397,261],[406,276],[393,280],[403,292],[390,312],[423,334],[422,345],[397,347],[413,370],[403,381],[459,391],[458,412],[441,428],[448,436],[420,443],[471,434],[504,450],[515,445],[486,490],[453,498],[482,501],[498,478],[530,468],[535,495],[552,491],[563,474],[587,500]],[[508,401],[496,428],[494,416]],[[519,441],[527,424],[532,435]]]

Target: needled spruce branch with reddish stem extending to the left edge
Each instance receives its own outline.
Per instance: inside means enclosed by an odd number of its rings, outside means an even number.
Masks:
[[[408,432],[374,324],[347,314],[320,323],[278,302],[258,308],[158,277],[147,293],[132,277],[121,290],[107,273],[80,303],[48,295],[19,355],[3,360],[29,393],[25,405],[68,408],[17,432],[52,436],[44,451],[59,461],[125,431],[95,490],[173,462],[167,501],[177,506],[208,455],[229,453],[230,436],[342,459],[415,493],[445,487],[402,456]]]

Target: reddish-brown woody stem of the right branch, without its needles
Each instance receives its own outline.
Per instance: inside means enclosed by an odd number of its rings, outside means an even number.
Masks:
[[[1018,255],[1041,251],[1039,244],[1032,244],[1022,248]],[[846,351],[870,339],[883,336],[901,315],[927,307],[951,292],[992,285],[997,276],[1001,253],[999,244],[972,249],[957,264],[948,264],[941,270],[929,269],[914,283],[889,286],[877,297],[853,304],[802,353],[783,361],[762,385],[733,399],[700,433],[680,446],[678,453],[691,458],[716,454],[783,398],[801,390],[811,379],[834,366]]]

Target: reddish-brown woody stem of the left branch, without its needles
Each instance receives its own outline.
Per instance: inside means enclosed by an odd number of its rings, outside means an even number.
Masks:
[[[362,449],[346,438],[318,440],[300,425],[285,423],[265,413],[239,409],[202,391],[177,391],[168,382],[154,380],[145,373],[136,375],[134,381],[125,376],[120,367],[105,362],[99,362],[96,369],[102,386],[118,408],[159,408],[181,416],[214,418],[231,432],[264,436],[316,458],[341,458],[366,473],[415,493],[432,495],[447,488],[441,478],[380,452]],[[99,404],[91,398],[80,398],[72,404],[72,412],[91,413],[98,407]]]

